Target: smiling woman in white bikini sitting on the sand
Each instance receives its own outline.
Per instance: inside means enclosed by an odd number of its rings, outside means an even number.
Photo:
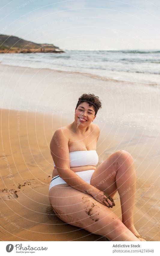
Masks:
[[[83,94],[74,122],[55,131],[50,143],[55,169],[49,199],[57,216],[66,223],[103,235],[111,241],[145,241],[133,223],[136,176],[131,155],[119,150],[101,165],[96,144],[100,130],[93,124],[101,102]],[[118,190],[122,221],[109,208]]]

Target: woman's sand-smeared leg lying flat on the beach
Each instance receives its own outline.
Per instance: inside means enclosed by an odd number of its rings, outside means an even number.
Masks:
[[[51,188],[49,199],[57,216],[66,223],[112,241],[139,241],[109,208],[67,184]]]

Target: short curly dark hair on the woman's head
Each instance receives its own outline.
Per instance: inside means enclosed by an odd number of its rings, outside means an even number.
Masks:
[[[102,107],[101,100],[99,100],[98,96],[95,96],[93,93],[88,93],[88,94],[83,93],[78,99],[76,109],[80,105],[80,103],[82,103],[84,101],[88,102],[90,107],[91,106],[94,107],[95,115],[97,114],[98,109],[101,109],[101,107]]]

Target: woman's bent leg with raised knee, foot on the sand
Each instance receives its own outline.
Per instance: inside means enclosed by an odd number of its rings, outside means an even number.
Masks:
[[[111,197],[118,190],[122,223],[134,235],[139,235],[133,223],[136,174],[131,155],[125,150],[119,150],[110,155],[93,173],[91,185],[110,194]]]

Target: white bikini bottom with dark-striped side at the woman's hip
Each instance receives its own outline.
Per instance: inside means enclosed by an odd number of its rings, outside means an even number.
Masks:
[[[92,174],[95,170],[87,170],[87,171],[81,171],[81,172],[75,172],[81,179],[83,179],[87,183],[91,183]],[[67,184],[62,178],[59,177],[59,175],[55,176],[51,182],[50,182],[50,188],[49,190],[59,184]]]

